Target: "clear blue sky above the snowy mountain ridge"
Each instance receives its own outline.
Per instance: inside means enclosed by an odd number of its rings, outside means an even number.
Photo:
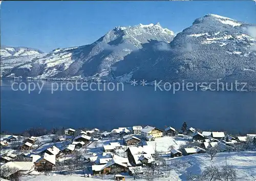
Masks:
[[[42,51],[90,44],[116,26],[160,22],[180,32],[207,13],[256,24],[252,1],[3,2],[1,44]]]

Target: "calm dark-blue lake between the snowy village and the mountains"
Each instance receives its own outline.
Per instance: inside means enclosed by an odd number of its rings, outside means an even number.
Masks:
[[[11,89],[1,80],[1,131],[31,127],[87,127],[104,130],[133,125],[180,128],[183,121],[201,130],[256,132],[256,93],[155,91],[154,86],[124,84],[124,91],[68,91],[51,94],[51,83]],[[42,81],[33,81],[42,83]],[[18,82],[19,83],[19,82]],[[28,84],[28,81],[26,81]],[[17,86],[16,86],[17,87]]]

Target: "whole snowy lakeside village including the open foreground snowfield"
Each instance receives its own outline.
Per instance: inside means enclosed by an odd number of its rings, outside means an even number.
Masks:
[[[255,133],[201,131],[186,122],[179,130],[135,125],[1,134],[1,180],[254,180],[255,157]]]

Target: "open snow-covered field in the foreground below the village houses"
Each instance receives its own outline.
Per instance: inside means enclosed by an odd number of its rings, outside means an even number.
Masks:
[[[175,159],[170,159],[169,165],[172,165],[173,160],[185,160],[189,161],[188,166],[183,169],[171,169],[169,171],[169,177],[160,177],[156,180],[172,180],[180,181],[186,180],[186,173],[191,172],[193,174],[199,174],[205,166],[216,165],[218,167],[225,166],[227,157],[227,165],[232,165],[236,169],[238,174],[237,180],[255,180],[256,178],[256,152],[246,151],[246,152],[223,152],[219,153],[211,161],[209,157],[205,154],[194,154],[189,156],[177,157]],[[56,173],[50,173],[49,175],[41,174],[38,176],[24,176],[22,180],[101,180],[101,176],[92,176],[91,178],[83,177],[82,174],[72,174],[72,175],[60,175]],[[104,180],[113,180],[113,175],[104,175]],[[133,176],[125,175],[125,180],[133,180]],[[136,178],[136,180],[145,180],[141,176]],[[207,180],[207,178],[206,178]]]

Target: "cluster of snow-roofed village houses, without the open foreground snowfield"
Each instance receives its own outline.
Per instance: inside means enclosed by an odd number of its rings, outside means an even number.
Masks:
[[[255,150],[256,133],[201,131],[188,128],[186,122],[179,131],[171,126],[160,129],[135,125],[112,131],[68,128],[39,136],[2,133],[1,178],[22,180],[23,176],[42,173],[80,173],[95,179],[113,175],[115,180],[153,180],[169,177],[176,167],[187,167],[189,161],[178,162],[177,157],[203,154],[213,160],[221,152]],[[187,180],[190,178],[193,176]]]

